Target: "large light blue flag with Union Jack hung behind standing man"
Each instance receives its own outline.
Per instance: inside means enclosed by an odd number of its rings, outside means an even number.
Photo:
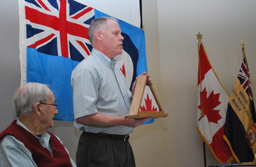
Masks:
[[[91,53],[91,21],[107,15],[73,0],[19,0],[19,15],[21,84],[49,84],[59,104],[54,119],[73,121],[71,72]],[[131,86],[147,71],[145,34],[122,20],[119,24],[125,39],[117,65]]]

